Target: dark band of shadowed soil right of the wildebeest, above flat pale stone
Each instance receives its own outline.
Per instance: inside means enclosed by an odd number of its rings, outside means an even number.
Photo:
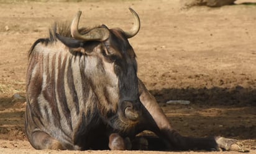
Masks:
[[[162,88],[150,90],[160,103],[169,100],[188,100],[191,103],[203,103],[204,105],[238,105],[256,106],[256,90],[252,88]]]

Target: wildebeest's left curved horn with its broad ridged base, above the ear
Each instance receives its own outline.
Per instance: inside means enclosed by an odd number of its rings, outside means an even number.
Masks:
[[[75,18],[73,19],[71,23],[71,35],[73,38],[77,40],[83,40],[83,41],[104,41],[109,38],[109,30],[107,28],[94,28],[93,30],[90,30],[88,33],[81,35],[80,32],[78,32],[78,24],[80,20],[82,12],[78,11]]]

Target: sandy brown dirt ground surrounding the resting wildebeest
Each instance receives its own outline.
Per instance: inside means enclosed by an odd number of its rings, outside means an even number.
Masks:
[[[83,11],[80,25],[128,30],[133,22],[128,7],[138,12],[142,24],[130,39],[138,75],[173,127],[183,135],[239,139],[256,153],[255,0],[191,9],[180,9],[178,0],[1,0],[0,153],[167,153],[34,150],[24,133],[25,71],[32,43],[47,37],[54,21],[71,20],[78,10]],[[190,104],[168,105],[168,100]]]

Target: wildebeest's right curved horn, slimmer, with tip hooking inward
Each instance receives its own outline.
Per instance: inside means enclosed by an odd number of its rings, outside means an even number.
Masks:
[[[139,15],[132,8],[129,8],[129,10],[130,10],[130,12],[132,12],[132,15],[134,15],[134,27],[132,27],[128,32],[124,32],[124,34],[126,35],[126,38],[132,38],[140,30]]]

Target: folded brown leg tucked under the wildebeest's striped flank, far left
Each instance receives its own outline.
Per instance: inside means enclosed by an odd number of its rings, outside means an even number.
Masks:
[[[42,131],[32,133],[32,142],[30,143],[35,149],[65,150],[58,140]]]

